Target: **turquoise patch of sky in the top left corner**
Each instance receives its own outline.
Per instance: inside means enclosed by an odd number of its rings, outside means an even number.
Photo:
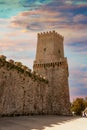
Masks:
[[[0,17],[10,18],[21,11],[35,10],[41,5],[47,4],[52,0],[0,0]]]

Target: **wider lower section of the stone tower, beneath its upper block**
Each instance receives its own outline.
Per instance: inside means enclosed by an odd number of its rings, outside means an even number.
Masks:
[[[47,106],[49,114],[70,114],[68,64],[67,59],[61,62],[34,64],[34,70],[49,80]]]

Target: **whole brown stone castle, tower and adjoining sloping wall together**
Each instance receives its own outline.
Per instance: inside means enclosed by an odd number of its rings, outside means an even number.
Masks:
[[[33,72],[0,57],[0,115],[70,114],[64,38],[50,31],[37,40]]]

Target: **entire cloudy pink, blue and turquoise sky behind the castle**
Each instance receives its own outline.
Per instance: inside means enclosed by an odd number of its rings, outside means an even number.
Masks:
[[[0,55],[32,69],[37,33],[64,36],[71,101],[87,96],[87,0],[0,0]]]

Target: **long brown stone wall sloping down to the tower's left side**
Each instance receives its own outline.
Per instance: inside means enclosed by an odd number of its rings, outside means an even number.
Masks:
[[[0,115],[47,113],[48,83],[0,59]]]

